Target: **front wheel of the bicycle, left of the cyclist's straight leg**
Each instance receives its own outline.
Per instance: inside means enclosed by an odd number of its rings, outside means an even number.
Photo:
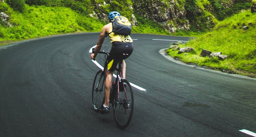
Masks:
[[[104,99],[105,80],[106,76],[102,70],[99,70],[95,75],[92,86],[92,105],[96,111],[101,107]]]

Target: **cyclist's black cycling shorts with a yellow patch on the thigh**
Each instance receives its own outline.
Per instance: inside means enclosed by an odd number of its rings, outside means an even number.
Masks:
[[[133,45],[130,42],[113,42],[107,57],[107,65],[109,71],[115,71],[120,60],[127,59],[133,51]]]

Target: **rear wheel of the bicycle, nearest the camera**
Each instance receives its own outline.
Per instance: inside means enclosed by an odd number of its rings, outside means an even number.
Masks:
[[[113,106],[116,125],[121,129],[126,128],[130,124],[130,120],[133,113],[133,107],[134,107],[133,92],[132,92],[130,83],[126,79],[122,79],[120,85],[123,86],[124,82],[127,84],[125,87],[125,91],[119,92],[119,100],[117,99],[118,97],[116,96],[116,99],[114,101],[114,106]]]

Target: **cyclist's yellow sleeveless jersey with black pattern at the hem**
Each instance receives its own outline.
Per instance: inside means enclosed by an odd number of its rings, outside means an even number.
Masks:
[[[116,34],[116,33],[113,33],[112,32],[112,23],[110,23],[111,26],[109,28],[109,39],[111,40],[111,43],[112,42],[133,42],[133,40],[131,39],[130,35],[119,35],[119,34]]]

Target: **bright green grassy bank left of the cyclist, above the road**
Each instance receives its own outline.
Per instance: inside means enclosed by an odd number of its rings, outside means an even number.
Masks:
[[[9,22],[13,25],[0,25],[2,43],[53,34],[101,31],[103,27],[101,21],[82,16],[66,7],[25,5],[25,11],[21,14],[0,3],[0,10],[9,15]]]

